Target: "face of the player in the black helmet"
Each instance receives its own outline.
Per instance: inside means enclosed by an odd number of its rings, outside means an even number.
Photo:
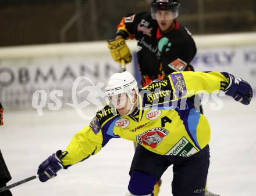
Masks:
[[[162,32],[166,32],[172,27],[174,16],[170,10],[156,10],[155,19]]]

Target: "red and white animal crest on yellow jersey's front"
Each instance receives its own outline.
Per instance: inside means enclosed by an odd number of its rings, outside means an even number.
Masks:
[[[140,135],[137,135],[137,143],[150,146],[151,148],[156,148],[162,142],[162,140],[169,135],[169,133],[169,130],[161,127],[152,128],[141,133]]]

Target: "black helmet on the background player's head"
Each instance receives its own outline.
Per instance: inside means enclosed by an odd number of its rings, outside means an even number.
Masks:
[[[151,3],[151,9],[154,10],[177,10],[179,6],[179,0],[154,0]]]

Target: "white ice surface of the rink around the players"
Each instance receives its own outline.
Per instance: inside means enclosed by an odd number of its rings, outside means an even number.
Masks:
[[[211,125],[211,165],[208,188],[222,196],[256,195],[256,99],[243,106],[223,99],[222,110],[204,106]],[[73,109],[5,111],[0,128],[0,148],[14,183],[37,172],[38,165],[56,150],[65,149],[70,139],[88,124]],[[95,156],[62,170],[41,183],[33,180],[12,188],[15,196],[115,196],[125,195],[133,143],[112,139]],[[171,194],[172,168],[162,177],[161,195]]]

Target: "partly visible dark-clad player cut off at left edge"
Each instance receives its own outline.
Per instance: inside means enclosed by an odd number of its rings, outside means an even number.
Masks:
[[[0,126],[1,125],[3,125],[3,107],[2,107],[2,104],[0,103]],[[10,179],[12,179],[12,177],[10,176],[9,170],[6,167],[5,161],[0,151],[0,188],[5,187],[6,183],[8,183]],[[3,193],[0,193],[0,196],[11,196],[11,195],[12,193],[10,193],[9,190]]]

